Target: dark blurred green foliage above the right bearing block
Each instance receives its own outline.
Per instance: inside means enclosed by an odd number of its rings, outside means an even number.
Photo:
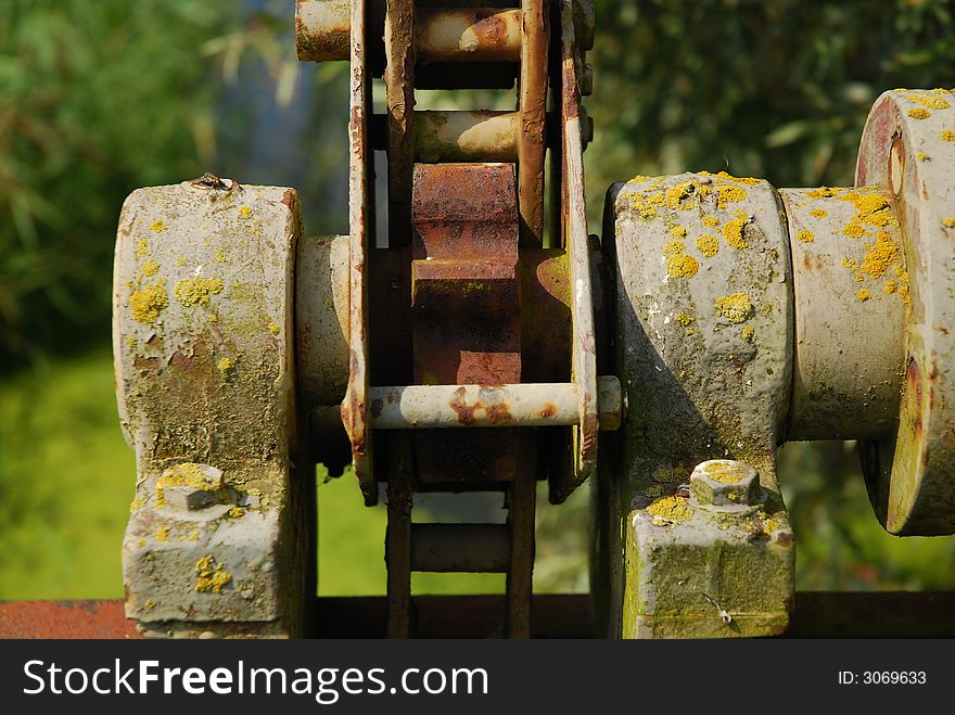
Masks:
[[[955,85],[947,0],[596,0],[586,171],[706,169],[777,187],[851,186],[875,99]]]

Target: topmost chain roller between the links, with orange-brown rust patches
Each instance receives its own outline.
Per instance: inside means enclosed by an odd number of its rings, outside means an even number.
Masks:
[[[419,62],[518,62],[521,11],[421,8],[415,20]]]

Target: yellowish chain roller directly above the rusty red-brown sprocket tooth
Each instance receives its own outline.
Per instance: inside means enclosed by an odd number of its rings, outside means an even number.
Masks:
[[[418,112],[415,154],[419,162],[515,162],[517,112]]]

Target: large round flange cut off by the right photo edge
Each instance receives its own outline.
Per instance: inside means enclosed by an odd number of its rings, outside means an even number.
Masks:
[[[869,113],[856,184],[889,191],[902,222],[911,312],[894,434],[864,443],[863,473],[886,528],[955,532],[955,95],[886,92]]]

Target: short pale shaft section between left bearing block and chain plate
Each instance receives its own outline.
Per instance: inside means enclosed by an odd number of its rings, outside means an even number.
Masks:
[[[298,394],[307,405],[338,405],[348,384],[348,237],[309,235],[295,267]]]

